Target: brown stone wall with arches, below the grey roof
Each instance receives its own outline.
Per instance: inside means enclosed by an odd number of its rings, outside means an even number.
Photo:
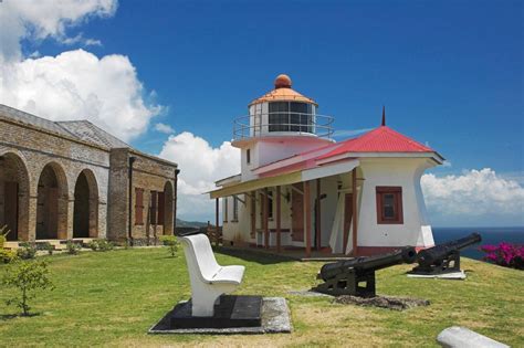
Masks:
[[[13,182],[18,181],[15,183],[19,208],[17,238],[30,241],[36,239],[39,207],[40,210],[44,209],[42,213],[50,211],[54,213],[55,209],[54,205],[42,208],[48,201],[43,194],[43,187],[40,188],[39,200],[39,181],[44,172],[44,177],[50,177],[44,178],[44,181],[49,181],[46,187],[53,186],[51,179],[54,178],[57,191],[57,219],[46,223],[56,224],[56,228],[51,229],[56,230],[56,238],[72,239],[75,186],[83,173],[88,182],[90,205],[94,207],[90,209],[90,236],[126,239],[129,212],[128,158],[130,156],[137,158],[134,165],[134,188],[144,189],[145,207],[150,204],[151,191],[164,192],[167,188],[169,193],[167,194],[168,202],[165,204],[166,231],[160,225],[155,226],[150,223],[135,225],[133,221],[133,236],[146,239],[165,233],[171,234],[175,215],[172,207],[176,192],[174,187],[176,165],[129,148],[109,150],[73,136],[56,134],[0,115],[0,225],[8,221],[6,211],[12,214],[6,202],[4,190],[7,187],[12,189]],[[168,207],[171,208],[170,211]],[[134,214],[134,207],[132,208]],[[144,217],[144,221],[149,222],[146,218]],[[45,219],[42,215],[41,220]]]

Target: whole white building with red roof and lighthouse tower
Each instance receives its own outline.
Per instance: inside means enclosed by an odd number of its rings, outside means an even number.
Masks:
[[[291,88],[249,104],[234,122],[241,172],[217,181],[223,243],[369,255],[433,245],[420,177],[443,158],[385,124],[360,137],[332,140],[333,118]],[[217,219],[218,220],[218,219]]]

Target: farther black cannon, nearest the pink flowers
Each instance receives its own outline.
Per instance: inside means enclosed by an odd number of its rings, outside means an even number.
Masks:
[[[479,233],[472,233],[459,240],[422,250],[417,255],[419,265],[408,274],[441,275],[460,272],[460,251],[481,241]]]

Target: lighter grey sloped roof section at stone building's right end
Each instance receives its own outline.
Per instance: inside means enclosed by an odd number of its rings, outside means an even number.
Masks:
[[[77,138],[97,144],[99,146],[108,147],[108,148],[124,148],[128,147],[129,145],[122,141],[117,137],[108,134],[104,129],[93,125],[91,122],[83,119],[83,120],[64,120],[57,122],[59,125],[71,131]]]

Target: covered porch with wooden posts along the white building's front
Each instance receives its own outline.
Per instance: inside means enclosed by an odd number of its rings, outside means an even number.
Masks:
[[[216,225],[223,222],[223,245],[305,261],[358,255],[357,166],[358,160],[350,159],[315,172],[259,178],[210,192]]]

